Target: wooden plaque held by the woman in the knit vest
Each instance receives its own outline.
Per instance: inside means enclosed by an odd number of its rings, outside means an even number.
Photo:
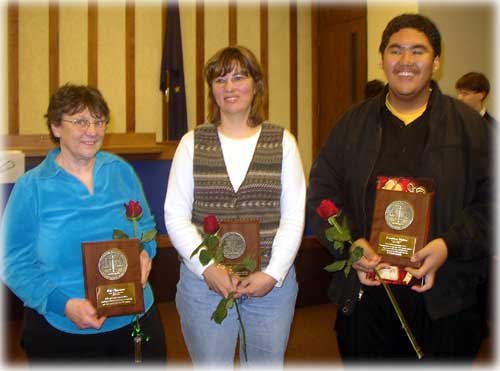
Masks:
[[[257,263],[255,271],[260,271],[260,237],[258,220],[225,220],[220,223],[220,243],[224,251],[223,264],[236,268],[245,258],[252,258]],[[235,273],[240,277],[250,274],[248,270]]]

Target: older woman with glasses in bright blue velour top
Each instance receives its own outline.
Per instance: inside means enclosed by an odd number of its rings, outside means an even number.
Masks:
[[[21,345],[29,363],[134,363],[135,315],[99,317],[85,299],[82,242],[133,235],[124,204],[139,201],[141,231],[155,228],[142,185],[123,159],[100,151],[109,108],[92,87],[66,84],[45,115],[59,144],[17,180],[2,219],[2,279],[24,303]],[[165,363],[160,316],[148,283],[155,240],[140,253],[145,313],[142,362]]]

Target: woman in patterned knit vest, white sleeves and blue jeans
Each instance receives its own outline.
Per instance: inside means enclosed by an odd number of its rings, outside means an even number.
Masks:
[[[250,50],[228,47],[205,66],[208,122],[188,132],[175,153],[165,224],[181,256],[176,305],[195,366],[233,367],[241,335],[236,311],[217,324],[212,312],[236,292],[248,364],[282,366],[297,281],[293,262],[304,229],[305,180],[295,138],[265,122],[261,68]],[[261,270],[239,280],[223,266],[203,266],[192,252],[203,220],[257,219]],[[245,362],[240,338],[240,359]]]

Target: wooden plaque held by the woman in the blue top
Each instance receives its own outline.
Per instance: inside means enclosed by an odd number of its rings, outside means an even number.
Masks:
[[[139,240],[82,243],[86,298],[99,316],[144,312]]]

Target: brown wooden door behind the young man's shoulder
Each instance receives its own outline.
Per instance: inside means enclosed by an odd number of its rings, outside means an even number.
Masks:
[[[313,155],[340,116],[363,99],[366,84],[366,5],[322,5],[316,8],[317,126]]]

